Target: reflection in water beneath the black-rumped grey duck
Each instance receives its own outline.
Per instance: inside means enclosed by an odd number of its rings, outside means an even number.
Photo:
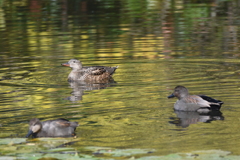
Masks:
[[[212,111],[209,113],[198,113],[198,112],[184,112],[184,111],[174,111],[177,117],[171,118],[173,121],[170,123],[176,126],[181,126],[183,128],[188,127],[190,124],[196,124],[198,122],[210,123],[214,120],[224,120],[222,113],[220,111]]]

